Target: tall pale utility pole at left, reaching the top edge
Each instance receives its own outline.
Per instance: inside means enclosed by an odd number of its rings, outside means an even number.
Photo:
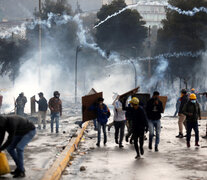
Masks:
[[[42,27],[41,27],[41,0],[39,0],[39,74],[38,81],[39,85],[41,84],[41,65],[42,65]]]

